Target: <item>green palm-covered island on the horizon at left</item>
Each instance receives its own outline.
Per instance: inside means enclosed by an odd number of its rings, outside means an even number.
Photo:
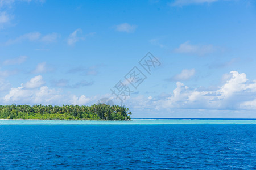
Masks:
[[[0,105],[0,119],[130,120],[129,108],[119,105]]]

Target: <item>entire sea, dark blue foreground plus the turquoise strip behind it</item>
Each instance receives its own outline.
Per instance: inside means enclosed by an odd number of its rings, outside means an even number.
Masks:
[[[0,169],[256,169],[256,120],[0,120]]]

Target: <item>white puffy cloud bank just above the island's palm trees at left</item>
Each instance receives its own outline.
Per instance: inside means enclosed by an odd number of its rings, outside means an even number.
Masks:
[[[5,82],[6,83],[6,82]],[[43,104],[43,105],[63,105],[63,104],[88,104],[89,101],[95,100],[94,98],[85,97],[81,95],[63,94],[60,90],[55,90],[44,86],[45,82],[41,75],[31,78],[27,83],[20,87],[11,88],[9,92],[0,98],[1,103],[5,104]],[[0,91],[4,89],[2,80],[0,79]]]

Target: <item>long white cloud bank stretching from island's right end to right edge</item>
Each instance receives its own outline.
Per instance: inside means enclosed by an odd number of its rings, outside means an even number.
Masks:
[[[205,113],[213,110],[240,112],[256,109],[256,80],[250,81],[245,73],[237,71],[231,71],[230,74],[232,76],[222,86],[214,89],[193,89],[177,82],[177,87],[170,94],[154,97],[131,96],[129,100],[125,100],[124,104],[144,113],[146,110],[151,113],[159,110],[167,112],[173,109],[196,109],[197,111],[204,109]]]

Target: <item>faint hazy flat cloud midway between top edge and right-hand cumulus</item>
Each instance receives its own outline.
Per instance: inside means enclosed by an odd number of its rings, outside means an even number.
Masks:
[[[204,56],[214,51],[215,48],[213,45],[192,45],[189,41],[184,42],[179,48],[174,49],[175,53],[197,54],[199,56]]]

